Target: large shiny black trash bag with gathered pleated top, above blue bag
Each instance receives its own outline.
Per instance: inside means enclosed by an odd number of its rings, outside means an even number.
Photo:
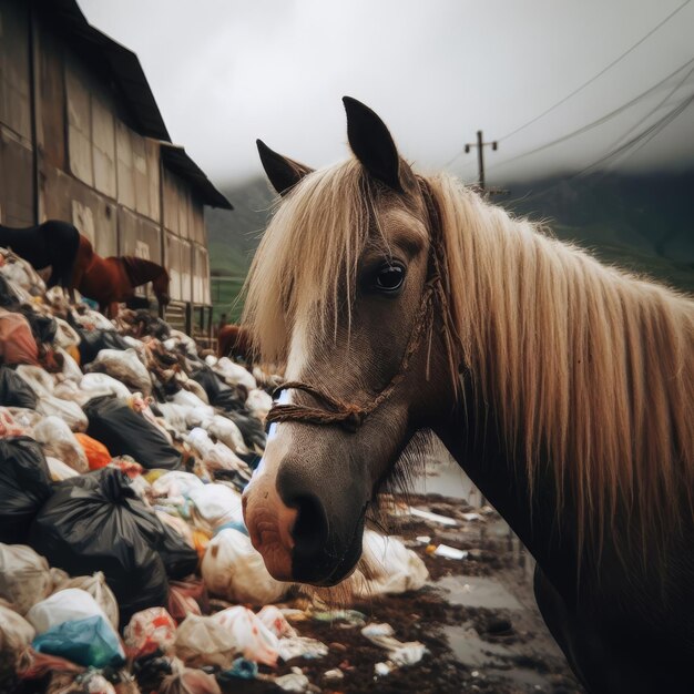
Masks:
[[[167,561],[176,578],[197,564],[195,550],[164,527],[115,468],[57,484],[31,524],[29,544],[71,575],[102,571],[122,624],[140,610],[166,605]]]

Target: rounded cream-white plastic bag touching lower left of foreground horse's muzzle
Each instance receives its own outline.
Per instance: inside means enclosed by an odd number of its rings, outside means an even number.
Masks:
[[[269,575],[249,538],[232,528],[210,541],[201,569],[207,590],[233,602],[271,604],[289,588]]]

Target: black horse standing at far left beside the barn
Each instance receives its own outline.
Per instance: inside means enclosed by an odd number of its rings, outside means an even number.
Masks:
[[[0,246],[11,248],[33,268],[48,271],[47,286],[68,288],[78,253],[80,232],[73,224],[49,220],[35,226],[0,225]]]

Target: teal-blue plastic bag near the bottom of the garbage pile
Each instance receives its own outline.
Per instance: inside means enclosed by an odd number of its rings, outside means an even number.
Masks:
[[[118,634],[100,615],[58,624],[37,636],[31,645],[38,653],[58,655],[85,667],[119,667],[125,663]]]

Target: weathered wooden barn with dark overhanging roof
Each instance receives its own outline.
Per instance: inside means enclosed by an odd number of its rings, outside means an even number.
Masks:
[[[74,0],[0,0],[0,223],[64,220],[100,255],[164,265],[167,320],[204,336],[205,205],[232,208],[171,142],[137,57]]]

